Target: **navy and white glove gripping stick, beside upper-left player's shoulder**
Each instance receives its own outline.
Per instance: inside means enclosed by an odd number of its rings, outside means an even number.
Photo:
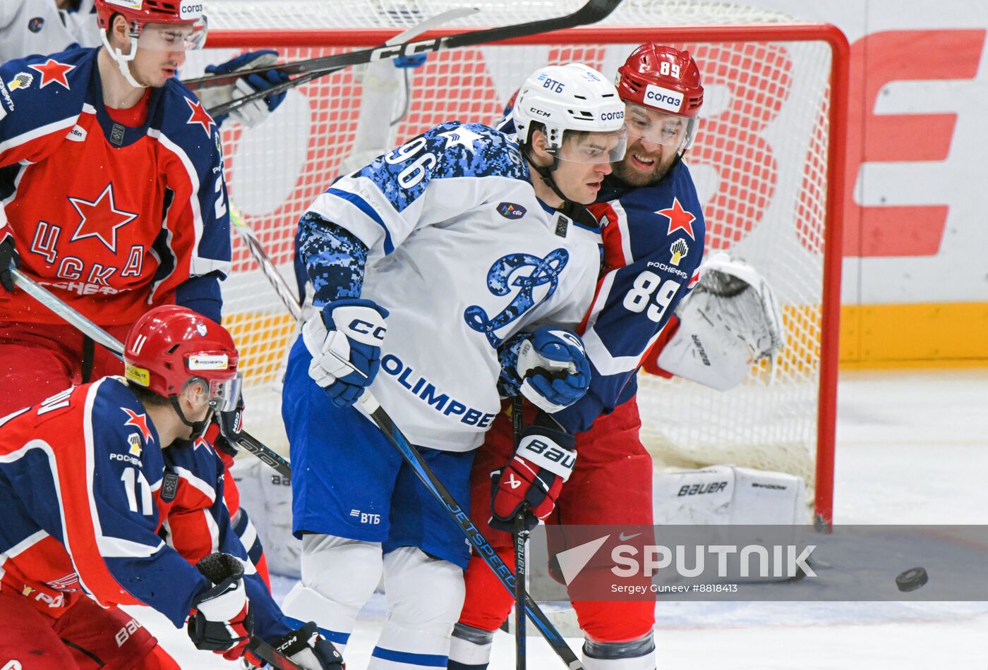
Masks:
[[[231,72],[237,72],[238,70],[249,70],[255,67],[268,67],[277,62],[278,51],[275,51],[274,49],[248,51],[247,53],[241,53],[236,58],[232,58],[225,63],[206,66],[206,73],[230,74]],[[264,75],[252,74],[249,77],[241,77],[233,84],[227,84],[226,86],[216,86],[211,89],[203,89],[199,98],[206,109],[210,110],[214,107],[225,105],[226,103],[243,98],[244,96],[250,95],[255,91],[270,89],[276,84],[287,82],[288,79],[290,79],[290,77],[288,77],[288,74],[285,72],[282,72],[281,70],[270,70]],[[216,116],[213,120],[216,121],[216,125],[219,125],[226,119],[227,116],[229,116],[233,120],[239,121],[244,126],[252,128],[267,118],[268,114],[274,112],[275,109],[282,104],[282,101],[285,100],[286,94],[287,92],[283,91],[282,93],[268,96],[267,98],[259,98],[258,100],[230,112],[229,114]]]

